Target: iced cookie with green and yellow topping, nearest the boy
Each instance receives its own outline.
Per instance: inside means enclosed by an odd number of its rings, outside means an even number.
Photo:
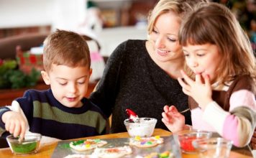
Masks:
[[[75,149],[81,152],[81,151],[94,149],[96,147],[102,147],[105,144],[107,144],[107,142],[101,139],[85,139],[85,140],[79,140],[79,141],[71,141],[69,146],[72,149]]]

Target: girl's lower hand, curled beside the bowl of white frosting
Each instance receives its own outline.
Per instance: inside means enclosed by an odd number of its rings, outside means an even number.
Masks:
[[[165,106],[163,110],[162,121],[165,126],[173,133],[182,131],[185,127],[185,117],[178,112],[177,108],[175,106]]]

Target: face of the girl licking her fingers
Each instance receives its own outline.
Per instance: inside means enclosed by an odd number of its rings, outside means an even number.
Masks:
[[[211,81],[216,81],[216,70],[221,56],[216,45],[187,45],[183,47],[186,64],[193,73],[209,75]]]

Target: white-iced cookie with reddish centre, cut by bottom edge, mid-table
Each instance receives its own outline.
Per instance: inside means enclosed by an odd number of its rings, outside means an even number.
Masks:
[[[129,146],[112,147],[112,148],[96,148],[93,155],[101,158],[118,158],[132,154],[132,148]]]

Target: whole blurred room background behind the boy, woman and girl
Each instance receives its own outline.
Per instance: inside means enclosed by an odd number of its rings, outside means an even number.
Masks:
[[[147,39],[147,14],[157,1],[0,0],[0,106],[10,105],[27,88],[49,88],[40,77],[42,42],[55,29],[77,32],[88,43],[93,69],[88,96],[117,45]],[[255,0],[213,1],[232,10],[255,51]]]

